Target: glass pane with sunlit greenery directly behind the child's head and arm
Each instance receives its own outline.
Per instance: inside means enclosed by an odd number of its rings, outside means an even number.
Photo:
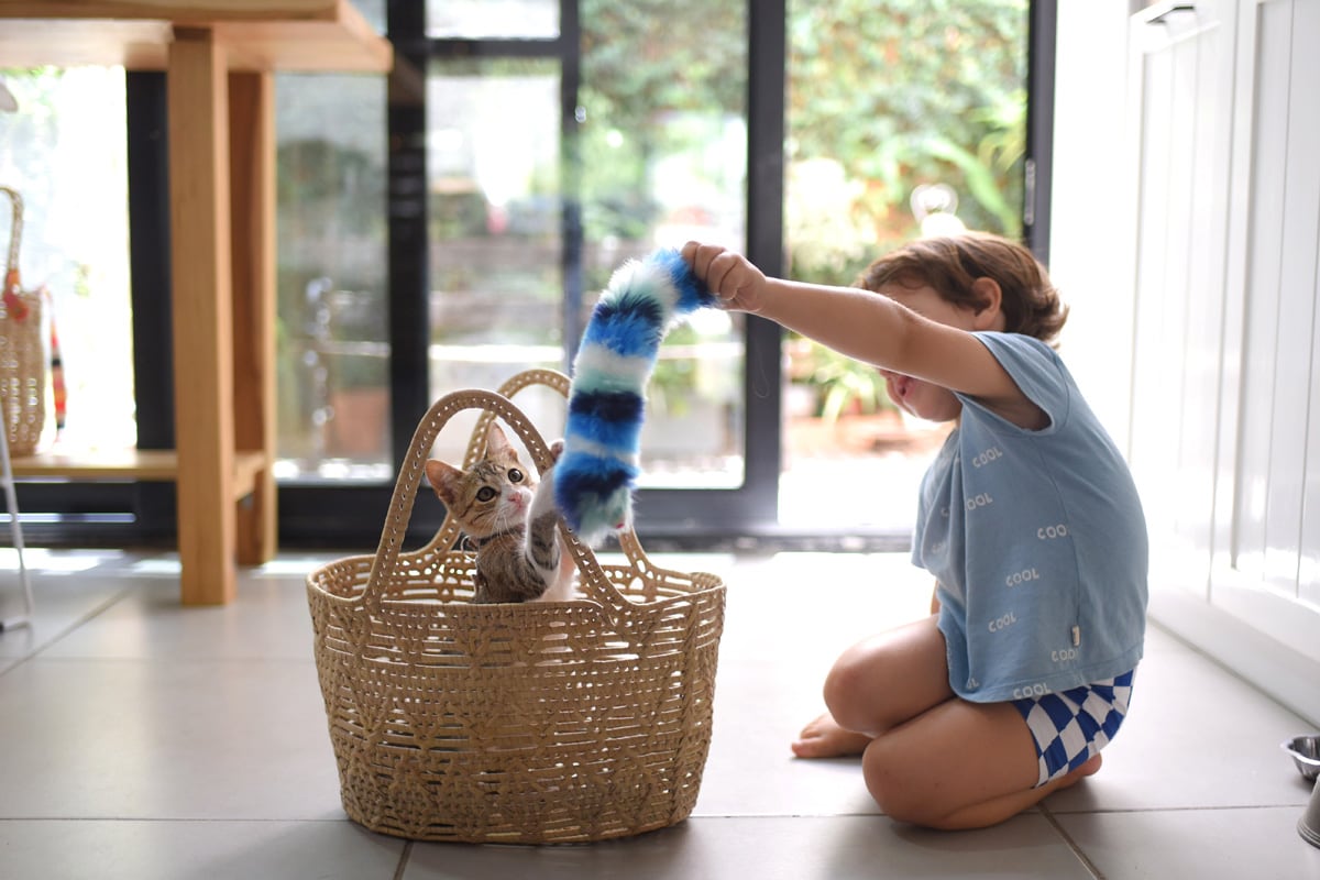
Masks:
[[[789,1],[792,277],[853,284],[880,253],[958,224],[1022,235],[1027,7]],[[866,364],[799,338],[787,346],[780,519],[909,530],[948,426],[900,417]],[[822,508],[821,484],[884,489]]]

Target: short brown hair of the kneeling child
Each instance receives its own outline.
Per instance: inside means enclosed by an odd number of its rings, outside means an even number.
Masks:
[[[1036,257],[1022,244],[987,232],[917,239],[886,253],[862,272],[858,288],[879,292],[886,284],[931,286],[946,301],[978,309],[977,278],[993,278],[1003,293],[1001,310],[1007,332],[1053,344],[1068,319],[1068,307]]]

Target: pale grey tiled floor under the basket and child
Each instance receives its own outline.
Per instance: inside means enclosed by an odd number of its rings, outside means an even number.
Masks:
[[[1151,632],[1104,770],[986,831],[879,815],[857,763],[800,761],[850,641],[923,613],[899,555],[657,557],[729,583],[715,728],[686,822],[570,847],[409,844],[346,821],[312,660],[305,574],[246,571],[222,608],[177,603],[177,563],[29,551],[38,615],[0,635],[0,877],[1279,877],[1320,880],[1279,749],[1315,730]],[[8,569],[5,565],[8,563]],[[0,555],[0,612],[15,611]]]

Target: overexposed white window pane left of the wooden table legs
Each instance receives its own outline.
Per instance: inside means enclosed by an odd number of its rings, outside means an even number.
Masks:
[[[17,110],[0,125],[0,183],[24,201],[18,269],[46,288],[59,340],[67,422],[48,392],[42,447],[123,449],[137,442],[128,277],[128,162],[120,67],[7,70]],[[9,244],[11,206],[0,198]]]

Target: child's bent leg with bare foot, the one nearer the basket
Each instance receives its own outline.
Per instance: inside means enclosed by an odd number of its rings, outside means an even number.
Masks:
[[[861,755],[878,734],[953,697],[944,636],[928,617],[853,645],[825,679],[829,712],[793,743],[799,757]]]

